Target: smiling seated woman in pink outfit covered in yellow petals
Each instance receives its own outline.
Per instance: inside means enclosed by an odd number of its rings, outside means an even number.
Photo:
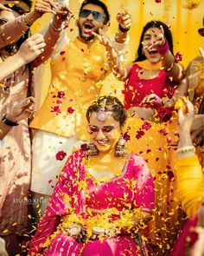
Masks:
[[[146,255],[154,184],[143,158],[125,153],[124,107],[103,96],[86,117],[92,142],[67,159],[29,255]]]

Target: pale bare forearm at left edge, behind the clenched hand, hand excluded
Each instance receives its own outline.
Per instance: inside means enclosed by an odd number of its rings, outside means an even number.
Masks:
[[[18,55],[8,57],[4,62],[0,63],[0,81],[5,77],[21,68],[25,62]]]

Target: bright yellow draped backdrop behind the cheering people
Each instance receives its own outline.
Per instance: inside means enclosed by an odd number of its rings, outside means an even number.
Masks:
[[[182,64],[186,68],[188,62],[190,62],[194,56],[199,55],[199,47],[204,47],[204,37],[200,36],[198,33],[198,29],[202,27],[204,0],[201,0],[199,6],[193,10],[187,10],[182,7],[182,5],[188,1],[189,0],[161,0],[161,3],[156,3],[155,0],[105,0],[104,3],[107,4],[111,15],[111,27],[107,35],[111,37],[114,36],[118,28],[118,23],[115,19],[117,13],[124,9],[128,10],[132,17],[132,26],[129,32],[131,41],[127,48],[127,59],[132,61],[136,56],[143,25],[150,20],[161,20],[169,25],[173,35],[174,53],[179,51],[182,54]],[[78,17],[81,2],[80,0],[70,0],[70,7],[76,17]],[[32,31],[36,32],[41,30],[48,24],[49,20],[50,15],[43,16],[41,20],[35,22]],[[72,32],[70,32],[70,28],[73,28]],[[70,23],[67,33],[71,39],[78,35],[75,21]],[[44,72],[44,77],[42,77],[43,92],[41,101],[47,93],[46,87],[48,87],[50,81],[49,64],[47,64],[45,68],[46,72]],[[110,83],[114,83],[117,86],[121,85],[112,75],[107,79],[107,88],[110,87]]]

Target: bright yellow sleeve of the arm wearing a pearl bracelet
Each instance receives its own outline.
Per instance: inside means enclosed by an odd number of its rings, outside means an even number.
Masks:
[[[177,161],[178,194],[188,217],[197,213],[204,200],[204,174],[197,155]]]

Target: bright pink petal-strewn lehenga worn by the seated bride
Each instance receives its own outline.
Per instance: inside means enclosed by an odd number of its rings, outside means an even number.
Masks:
[[[141,217],[154,208],[154,182],[149,167],[140,156],[129,154],[122,174],[99,182],[87,174],[87,161],[83,150],[68,158],[30,242],[29,255],[143,255],[134,237],[126,231],[135,226],[133,213]],[[73,223],[85,226],[85,243],[67,233],[67,227]],[[116,232],[89,240],[96,226]],[[121,234],[122,226],[126,231]]]

